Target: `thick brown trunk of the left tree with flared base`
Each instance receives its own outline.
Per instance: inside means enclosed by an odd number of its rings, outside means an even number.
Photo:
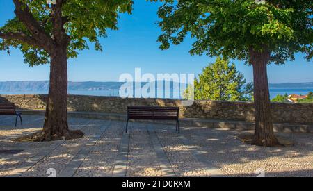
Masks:
[[[67,124],[67,47],[51,53],[49,95],[41,141],[70,140],[83,135],[70,131]]]

